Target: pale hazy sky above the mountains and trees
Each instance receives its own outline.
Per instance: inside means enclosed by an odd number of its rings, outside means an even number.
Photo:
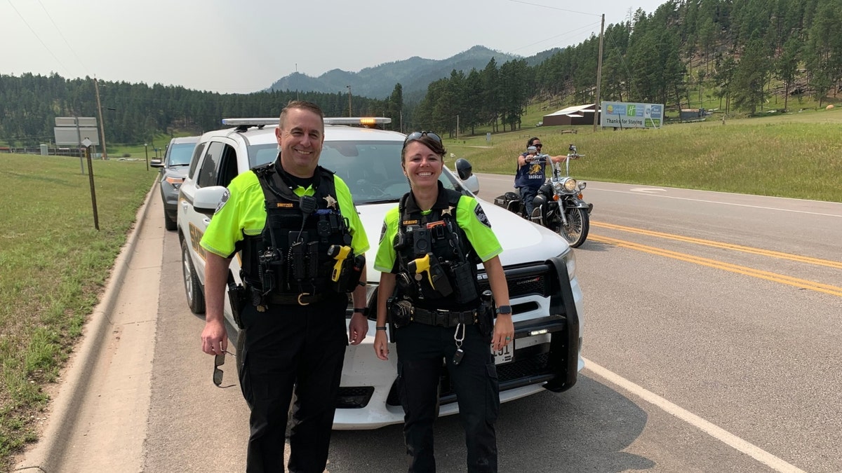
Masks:
[[[292,72],[358,72],[483,45],[519,56],[577,45],[666,0],[0,0],[0,74],[268,88]],[[606,44],[605,47],[610,47]]]

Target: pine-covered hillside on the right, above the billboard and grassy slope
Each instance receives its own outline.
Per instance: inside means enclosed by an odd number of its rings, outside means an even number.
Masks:
[[[669,0],[605,28],[600,101],[701,104],[702,91],[726,113],[754,114],[780,91],[819,106],[842,82],[839,0]],[[600,38],[593,35],[536,66],[494,60],[429,84],[414,110],[418,127],[472,134],[477,126],[515,130],[527,104],[596,100]]]

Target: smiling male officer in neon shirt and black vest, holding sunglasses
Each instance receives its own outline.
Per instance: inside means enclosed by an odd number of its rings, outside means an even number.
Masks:
[[[369,242],[348,186],[318,166],[323,116],[316,104],[287,104],[275,130],[278,158],[232,180],[201,240],[207,250],[202,351],[208,354],[227,348],[222,308],[228,264],[242,251],[248,302],[241,336],[247,337],[237,356],[251,408],[250,472],[284,471],[293,385],[289,470],[324,470],[345,347],[362,342],[368,331],[360,309],[345,335],[348,292],[354,307],[365,307],[360,255]]]

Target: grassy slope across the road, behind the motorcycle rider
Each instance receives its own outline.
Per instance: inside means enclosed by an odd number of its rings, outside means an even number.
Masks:
[[[577,133],[562,133],[570,130]],[[713,115],[660,130],[542,126],[494,135],[490,146],[485,136],[445,146],[478,172],[514,175],[514,158],[539,136],[552,155],[578,146],[586,157],[571,163],[571,174],[579,179],[842,202],[840,133],[836,108],[724,125],[722,115]]]

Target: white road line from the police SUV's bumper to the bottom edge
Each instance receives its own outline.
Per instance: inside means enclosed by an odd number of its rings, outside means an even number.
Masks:
[[[603,368],[599,364],[595,364],[589,359],[584,359],[584,365],[585,369],[590,369],[597,375],[600,375],[602,378],[605,378],[605,380],[609,380],[611,383],[620,386],[621,388],[631,392],[635,396],[642,398],[644,401],[647,401],[655,405],[656,407],[660,407],[664,412],[678,417],[685,423],[689,423],[695,428],[699,428],[701,431],[707,433],[713,438],[716,438],[723,444],[726,444],[729,447],[732,447],[733,449],[742,452],[743,454],[749,455],[750,457],[754,458],[754,460],[758,460],[760,463],[768,465],[775,471],[781,471],[781,473],[806,473],[806,471],[797,468],[795,465],[786,463],[786,461],[781,460],[780,458],[776,457],[773,454],[770,454],[769,452],[763,449],[760,449],[754,444],[749,444],[749,442],[746,442],[742,438],[737,437],[733,433],[729,433],[725,429],[717,427],[716,425],[707,422],[705,419],[696,416],[694,413],[686,411],[685,409],[674,405],[672,402],[663,399],[663,397],[643,389],[641,386],[632,383],[632,381],[630,380],[626,380],[620,375],[616,375],[608,369]]]

